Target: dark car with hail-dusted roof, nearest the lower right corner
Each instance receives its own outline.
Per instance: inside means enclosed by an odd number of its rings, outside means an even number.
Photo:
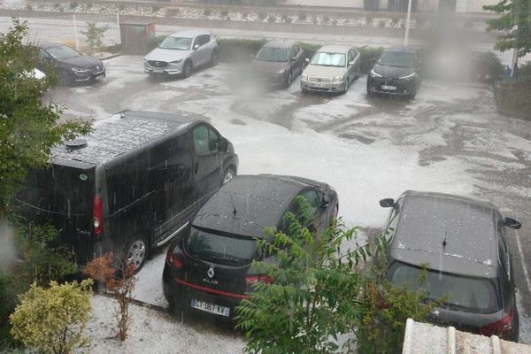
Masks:
[[[392,208],[384,230],[389,280],[427,290],[427,300],[448,296],[429,320],[444,326],[519,338],[512,256],[505,228],[519,228],[494,204],[441,193],[407,191],[383,199]],[[427,279],[419,285],[420,269]]]

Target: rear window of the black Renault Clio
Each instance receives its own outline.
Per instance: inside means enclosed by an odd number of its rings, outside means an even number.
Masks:
[[[257,242],[252,238],[222,235],[197,227],[191,227],[185,247],[196,258],[230,266],[248,265],[257,252]]]

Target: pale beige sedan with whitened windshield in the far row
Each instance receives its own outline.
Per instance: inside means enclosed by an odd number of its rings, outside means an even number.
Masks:
[[[343,45],[325,45],[308,60],[301,76],[306,91],[347,93],[350,83],[358,79],[361,57],[358,50]]]

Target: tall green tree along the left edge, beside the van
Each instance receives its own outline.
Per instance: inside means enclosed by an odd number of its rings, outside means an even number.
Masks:
[[[42,103],[55,82],[53,75],[40,80],[32,74],[37,49],[23,43],[27,32],[27,22],[13,19],[13,27],[0,34],[0,213],[24,185],[27,171],[50,163],[52,147],[90,131],[89,122],[60,123],[62,109]]]

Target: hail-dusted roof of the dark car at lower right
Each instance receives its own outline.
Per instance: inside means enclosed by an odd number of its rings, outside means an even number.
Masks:
[[[498,261],[494,204],[465,196],[407,191],[389,256],[415,266],[494,278]],[[446,239],[446,244],[443,241]]]

